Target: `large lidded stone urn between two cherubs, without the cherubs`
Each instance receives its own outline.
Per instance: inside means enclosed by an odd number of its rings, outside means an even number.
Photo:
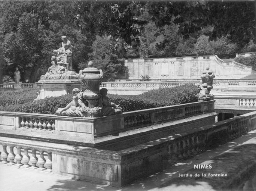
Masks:
[[[88,66],[92,66],[92,63],[89,62]],[[102,70],[93,67],[80,70],[78,80],[82,84],[82,96],[88,101],[88,107],[96,107],[98,98],[100,98],[100,84],[103,81]]]

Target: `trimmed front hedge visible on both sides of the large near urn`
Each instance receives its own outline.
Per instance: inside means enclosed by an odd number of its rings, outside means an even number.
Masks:
[[[141,95],[112,95],[108,94],[110,101],[120,104],[123,112],[149,109],[154,107],[171,106],[183,103],[196,102],[198,87],[191,84],[173,88],[151,90]],[[54,114],[59,107],[65,107],[72,100],[70,94],[60,97],[50,97],[30,103],[0,106],[2,111]]]

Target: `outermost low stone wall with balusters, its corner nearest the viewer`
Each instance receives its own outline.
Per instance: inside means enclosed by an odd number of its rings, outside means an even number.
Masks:
[[[0,137],[0,160],[7,165],[40,167],[58,175],[124,186],[255,127],[256,111],[119,151]]]

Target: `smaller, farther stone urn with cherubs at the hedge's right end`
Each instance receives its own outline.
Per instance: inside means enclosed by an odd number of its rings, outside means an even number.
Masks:
[[[213,79],[215,75],[213,72],[209,71],[209,68],[206,68],[206,72],[203,72],[201,75],[202,85],[198,85],[200,92],[197,94],[198,101],[209,101],[213,100],[214,95],[210,94],[211,89],[213,88]]]

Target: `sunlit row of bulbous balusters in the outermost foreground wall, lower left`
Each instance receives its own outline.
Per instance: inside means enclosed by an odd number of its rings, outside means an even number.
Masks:
[[[0,163],[52,172],[52,151],[0,140]]]

